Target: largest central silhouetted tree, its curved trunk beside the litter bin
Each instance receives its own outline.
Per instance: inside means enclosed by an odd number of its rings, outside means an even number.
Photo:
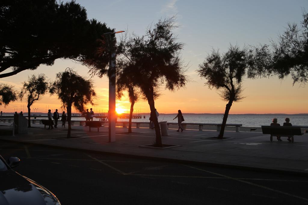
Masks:
[[[148,101],[155,125],[156,146],[162,146],[154,102],[160,86],[165,85],[166,89],[173,91],[183,87],[187,81],[185,66],[179,56],[184,44],[176,42],[172,33],[174,28],[174,17],[160,20],[145,35],[134,35],[120,43],[120,53],[126,58],[121,69],[129,73],[133,84]]]

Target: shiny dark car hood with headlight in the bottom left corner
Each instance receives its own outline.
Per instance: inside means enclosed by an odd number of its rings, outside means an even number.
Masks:
[[[55,204],[55,196],[13,170],[0,171],[0,204],[1,205],[42,205]]]

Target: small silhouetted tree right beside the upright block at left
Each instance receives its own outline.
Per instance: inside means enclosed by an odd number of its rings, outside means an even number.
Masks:
[[[30,124],[30,106],[34,101],[39,100],[45,93],[48,92],[48,82],[46,81],[46,76],[44,74],[39,74],[38,77],[32,75],[28,77],[28,81],[22,83],[22,90],[19,93],[19,98],[22,101],[24,95],[27,95],[27,108],[28,108],[28,128],[31,127]]]

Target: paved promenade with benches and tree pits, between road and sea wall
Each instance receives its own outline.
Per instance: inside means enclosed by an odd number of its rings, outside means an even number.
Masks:
[[[176,132],[168,130],[163,136],[163,144],[180,145],[169,149],[143,148],[140,145],[153,144],[155,131],[146,128],[133,128],[134,134],[125,134],[127,128],[116,128],[116,141],[108,142],[108,128],[95,128],[89,132],[88,127],[72,126],[70,140],[54,139],[65,137],[67,128],[44,130],[43,125],[33,124],[28,134],[16,136],[0,136],[0,140],[57,146],[61,148],[83,149],[108,152],[136,157],[160,158],[170,161],[186,161],[193,163],[215,164],[235,168],[253,170],[268,169],[272,171],[298,172],[308,175],[308,134],[295,136],[294,143],[282,137],[282,142],[274,139],[270,142],[268,135],[260,132],[225,132],[228,140],[201,139],[217,136],[216,131],[184,130]],[[0,123],[1,129],[8,128],[8,123]],[[275,137],[274,137],[275,138]]]

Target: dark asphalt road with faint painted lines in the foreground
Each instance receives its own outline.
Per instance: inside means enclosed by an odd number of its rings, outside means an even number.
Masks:
[[[4,159],[66,204],[308,204],[308,178],[0,141]]]

